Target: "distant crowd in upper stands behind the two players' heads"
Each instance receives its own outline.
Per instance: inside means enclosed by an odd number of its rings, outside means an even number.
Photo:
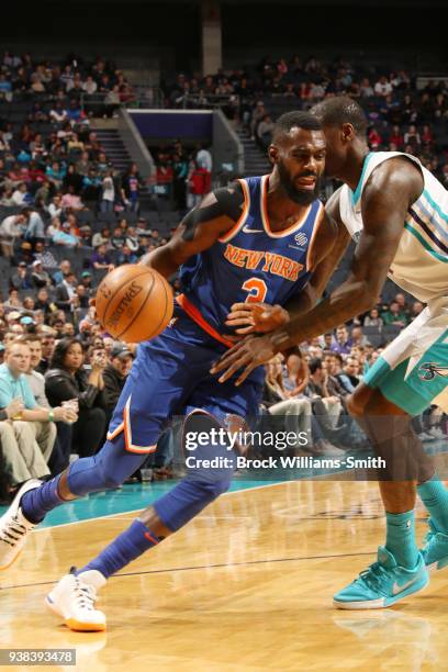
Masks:
[[[448,78],[417,89],[416,78],[405,69],[293,55],[203,78],[179,74],[164,83],[164,91],[167,107],[221,107],[264,149],[282,111],[306,110],[327,96],[347,94],[367,112],[372,149],[413,154],[448,186]]]

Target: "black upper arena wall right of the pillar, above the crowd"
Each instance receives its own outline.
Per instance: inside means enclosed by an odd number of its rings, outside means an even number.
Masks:
[[[298,2],[261,3],[257,8],[225,4],[222,11],[224,64],[254,64],[264,56],[272,58],[299,54],[374,55],[391,66],[391,56],[405,59],[414,69],[448,64],[446,21],[441,7],[421,3],[412,7],[369,7],[352,3]],[[254,29],[248,31],[248,16]],[[417,31],[418,21],[430,21],[430,30]],[[416,41],[418,48],[416,48]]]

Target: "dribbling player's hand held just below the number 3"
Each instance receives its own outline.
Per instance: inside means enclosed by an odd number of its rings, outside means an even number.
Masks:
[[[225,324],[235,328],[235,334],[268,334],[290,321],[288,311],[269,303],[234,303]]]

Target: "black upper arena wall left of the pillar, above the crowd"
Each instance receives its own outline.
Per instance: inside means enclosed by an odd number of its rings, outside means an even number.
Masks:
[[[86,58],[113,58],[123,67],[190,69],[200,60],[199,8],[145,2],[41,2],[8,8],[0,22],[2,51],[36,58],[74,52]],[[14,29],[14,26],[16,26]]]

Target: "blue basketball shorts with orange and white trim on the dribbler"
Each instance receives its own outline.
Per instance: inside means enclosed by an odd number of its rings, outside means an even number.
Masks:
[[[193,322],[181,307],[164,333],[142,343],[113,413],[108,439],[124,433],[125,449],[154,452],[161,432],[176,415],[202,408],[225,424],[228,415],[258,414],[264,370],[256,369],[237,388],[210,374],[226,346]]]

